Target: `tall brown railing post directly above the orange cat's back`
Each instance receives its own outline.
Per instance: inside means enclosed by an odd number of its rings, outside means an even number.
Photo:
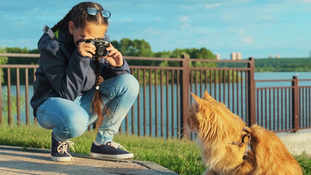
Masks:
[[[256,85],[255,85],[255,78],[254,78],[254,72],[255,72],[255,59],[254,57],[250,57],[249,60],[250,63],[247,64],[247,67],[250,68],[250,70],[247,72],[248,77],[248,120],[247,125],[251,126],[256,123]]]

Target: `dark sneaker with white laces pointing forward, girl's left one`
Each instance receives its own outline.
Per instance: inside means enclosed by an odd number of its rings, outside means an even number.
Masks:
[[[74,151],[74,148],[72,147],[72,144],[74,144],[72,141],[66,140],[66,141],[56,141],[54,139],[54,134],[52,133],[52,147],[51,147],[51,159],[53,161],[70,161],[70,150],[69,145]],[[65,154],[64,154],[65,153]],[[73,160],[73,158],[72,158]]]

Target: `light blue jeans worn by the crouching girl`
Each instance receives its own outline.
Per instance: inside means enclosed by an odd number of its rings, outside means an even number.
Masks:
[[[122,74],[104,80],[99,90],[104,104],[110,109],[110,118],[104,116],[95,140],[105,144],[118,132],[122,120],[138,96],[139,85],[133,75]],[[73,102],[60,97],[49,98],[37,108],[37,122],[43,128],[52,129],[57,141],[81,136],[88,125],[97,120],[97,115],[90,111],[95,91],[94,87]]]

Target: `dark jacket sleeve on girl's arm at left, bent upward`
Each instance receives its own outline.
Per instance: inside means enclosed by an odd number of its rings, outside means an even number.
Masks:
[[[48,40],[40,48],[40,60],[48,80],[60,97],[75,100],[80,94],[89,67],[90,58],[77,50],[67,59],[56,40]]]

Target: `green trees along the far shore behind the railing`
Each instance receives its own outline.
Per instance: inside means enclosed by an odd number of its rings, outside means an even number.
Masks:
[[[118,49],[123,56],[140,56],[140,57],[161,57],[161,58],[181,58],[181,55],[196,59],[216,59],[216,56],[206,48],[196,49],[175,49],[173,51],[153,52],[151,46],[144,39],[131,40],[123,38],[120,41],[113,40],[111,44]],[[27,48],[6,48],[0,47],[0,53],[39,53],[38,49],[28,50]],[[38,58],[32,57],[0,57],[0,64],[32,64],[35,65]],[[129,65],[135,66],[161,66],[161,67],[179,67],[179,62],[176,61],[146,61],[146,60],[127,60]],[[207,62],[191,62],[190,67],[246,67],[245,64],[237,63],[207,63]],[[255,71],[310,71],[311,58],[255,58]],[[142,73],[142,72],[141,72]],[[7,78],[7,72],[1,72],[2,83]],[[149,76],[149,75],[148,75]],[[150,75],[152,76],[152,75]],[[216,75],[213,75],[216,76]],[[12,84],[16,82],[16,71],[11,70]],[[29,70],[29,84],[34,80],[34,72]],[[142,76],[140,76],[142,77]],[[25,73],[24,69],[20,69],[20,82],[24,84]]]

